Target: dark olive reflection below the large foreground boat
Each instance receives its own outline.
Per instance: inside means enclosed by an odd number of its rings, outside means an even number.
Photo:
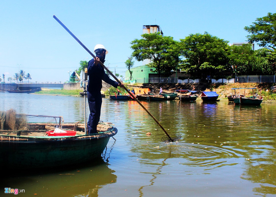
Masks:
[[[103,186],[116,183],[117,179],[115,171],[102,159],[92,165],[71,167],[71,170],[53,169],[30,173],[33,175],[17,172],[16,177],[5,179],[1,188],[9,186],[25,189],[25,193],[20,193],[20,196],[98,196]]]

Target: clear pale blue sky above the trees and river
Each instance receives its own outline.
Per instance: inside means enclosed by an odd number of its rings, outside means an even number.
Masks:
[[[90,51],[103,44],[109,51],[105,65],[124,76],[129,43],[141,38],[143,25],[160,25],[164,36],[174,40],[208,32],[229,43],[245,42],[244,27],[275,10],[271,0],[1,0],[0,76],[5,74],[6,81],[23,69],[31,82],[65,82],[79,61],[91,59],[53,15]],[[134,66],[141,65],[135,61]]]

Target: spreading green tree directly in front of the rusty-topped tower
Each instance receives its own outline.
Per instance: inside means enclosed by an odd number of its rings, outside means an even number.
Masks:
[[[174,45],[177,41],[170,36],[162,36],[160,32],[142,34],[142,39],[135,39],[131,42],[131,48],[134,50],[132,56],[137,61],[150,59],[149,67],[155,68],[159,77],[162,74],[170,74],[170,71],[176,67],[175,62],[178,62],[178,56],[172,54]],[[177,53],[177,52],[176,52]],[[177,58],[173,60],[173,58]]]

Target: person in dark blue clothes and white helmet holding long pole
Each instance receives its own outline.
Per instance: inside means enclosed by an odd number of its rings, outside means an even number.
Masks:
[[[96,45],[94,48],[96,53],[96,59],[92,58],[88,62],[87,74],[89,76],[87,84],[87,100],[89,105],[89,118],[87,121],[87,133],[97,133],[97,125],[100,121],[101,107],[102,107],[102,80],[117,88],[118,86],[123,87],[124,84],[113,81],[105,73],[104,68],[100,65],[105,62],[105,55],[108,51],[103,45]]]

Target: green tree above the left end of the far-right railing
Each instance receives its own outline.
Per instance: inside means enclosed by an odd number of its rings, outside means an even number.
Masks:
[[[228,55],[229,63],[234,67],[235,73],[239,75],[249,75],[253,72],[255,63],[255,54],[251,44],[243,44],[241,46],[230,46]]]

